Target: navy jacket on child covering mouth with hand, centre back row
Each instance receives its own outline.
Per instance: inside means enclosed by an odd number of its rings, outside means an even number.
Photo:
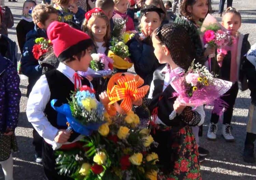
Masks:
[[[130,59],[133,62],[135,72],[144,79],[144,85],[150,85],[153,79],[154,71],[160,66],[152,45],[151,38],[139,39],[137,33],[130,41],[127,42]]]

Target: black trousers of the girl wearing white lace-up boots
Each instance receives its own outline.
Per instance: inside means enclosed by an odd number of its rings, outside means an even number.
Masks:
[[[236,82],[231,86],[231,88],[221,97],[223,101],[228,103],[229,107],[227,110],[224,112],[223,116],[223,124],[230,124],[231,119],[232,119],[232,114],[233,114],[233,107],[236,102],[237,98],[237,93],[238,93],[238,83]],[[218,123],[219,116],[217,114],[212,113],[211,116],[211,123]]]

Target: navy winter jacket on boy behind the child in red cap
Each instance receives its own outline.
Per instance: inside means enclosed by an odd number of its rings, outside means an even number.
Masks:
[[[42,66],[39,65],[38,60],[34,58],[32,49],[35,44],[35,39],[39,37],[47,38],[46,31],[35,28],[28,32],[26,42],[23,48],[23,54],[21,58],[21,70],[22,73],[28,76],[28,90],[27,96],[31,92],[34,84],[37,82],[39,77],[42,75]]]

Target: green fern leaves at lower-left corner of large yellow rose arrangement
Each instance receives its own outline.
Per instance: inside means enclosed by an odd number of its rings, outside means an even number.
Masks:
[[[59,170],[58,174],[63,176],[72,176],[76,173],[77,169],[80,169],[80,159],[82,158],[81,151],[79,149],[70,151],[56,151],[56,169]],[[81,159],[82,160],[82,159]]]

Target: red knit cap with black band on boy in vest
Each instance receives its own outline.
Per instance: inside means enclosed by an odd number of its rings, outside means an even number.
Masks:
[[[54,54],[60,62],[69,59],[94,44],[88,34],[58,21],[54,21],[48,26],[47,36],[51,40]]]

